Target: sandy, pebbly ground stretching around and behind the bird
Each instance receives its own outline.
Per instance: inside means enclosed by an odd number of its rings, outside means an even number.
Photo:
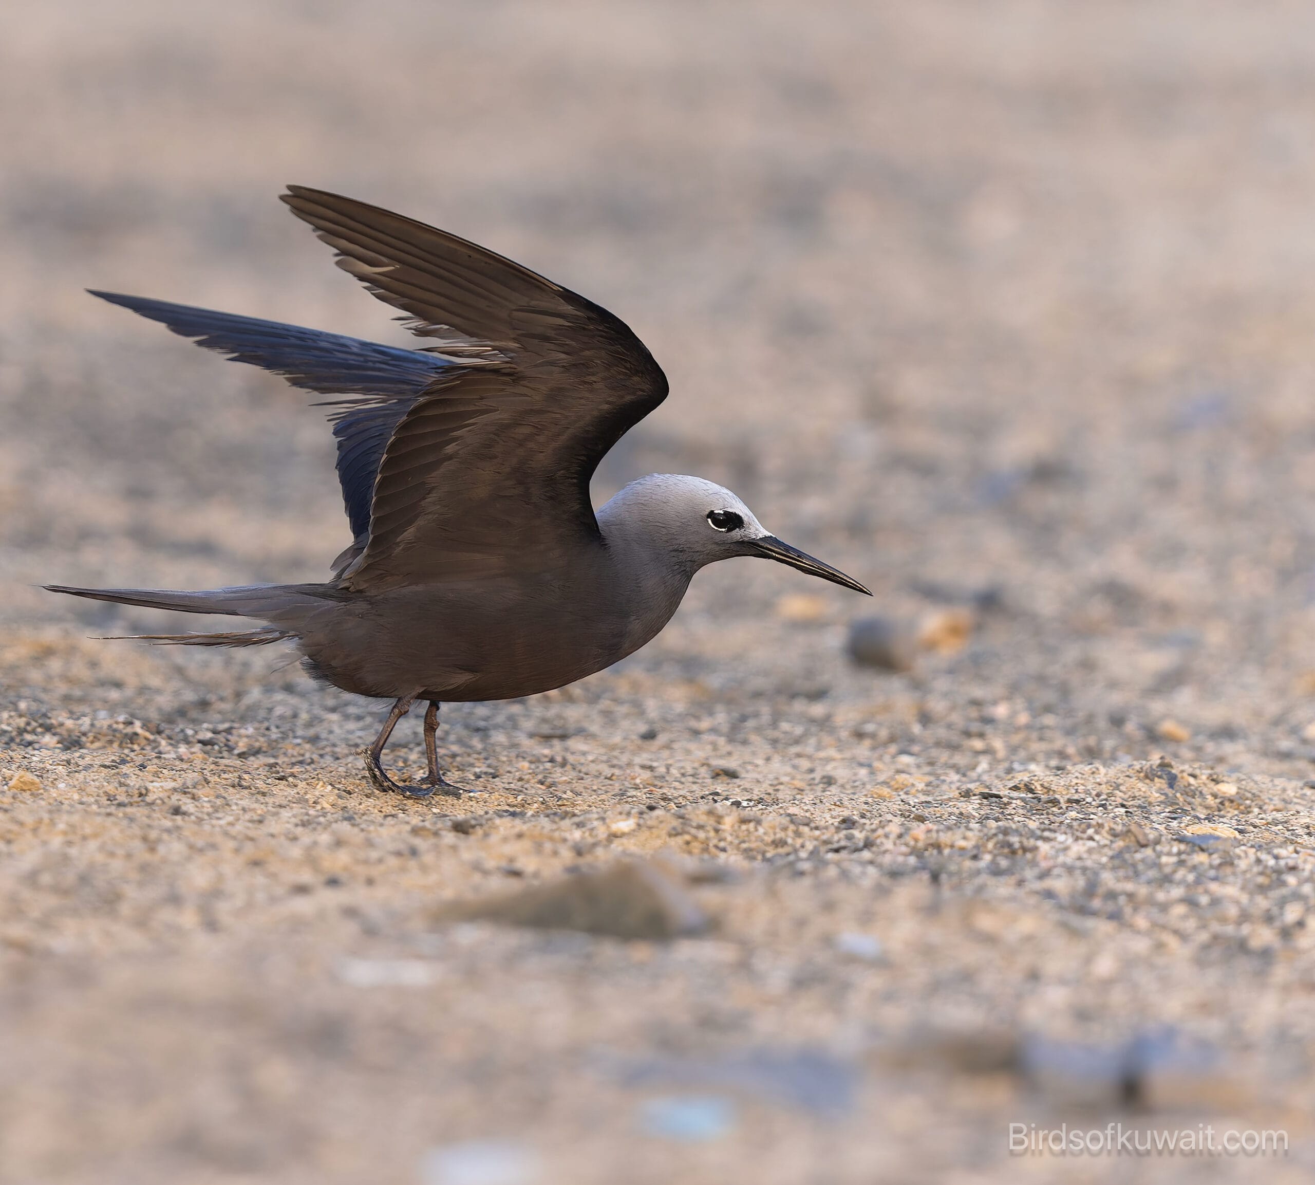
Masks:
[[[1306,5],[0,22],[0,1177],[1308,1178]],[[874,602],[709,569],[619,667],[446,710],[439,804],[293,655],[93,641],[196,619],[36,585],[347,541],[300,393],[82,293],[401,341],[285,181],[615,310],[673,395],[598,497],[722,480]],[[871,614],[911,671],[847,659]],[[626,858],[706,929],[454,921]],[[1290,1148],[1009,1152],[1110,1122]]]

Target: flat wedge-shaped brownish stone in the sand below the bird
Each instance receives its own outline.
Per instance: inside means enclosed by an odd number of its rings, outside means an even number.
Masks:
[[[438,918],[643,939],[702,934],[710,925],[676,877],[658,864],[639,860],[441,907]]]

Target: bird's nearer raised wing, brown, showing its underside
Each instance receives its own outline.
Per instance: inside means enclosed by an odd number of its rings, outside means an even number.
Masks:
[[[377,206],[289,187],[283,200],[338,263],[456,363],[397,422],[352,589],[543,571],[598,537],[589,479],[667,395],[606,309]]]

